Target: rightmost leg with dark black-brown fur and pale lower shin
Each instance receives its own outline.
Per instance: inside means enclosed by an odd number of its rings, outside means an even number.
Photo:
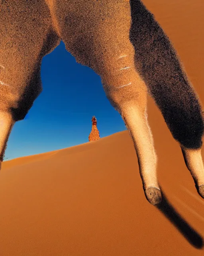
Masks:
[[[135,66],[180,144],[196,188],[204,198],[201,156],[204,122],[198,96],[169,38],[140,0],[131,0],[130,40]]]

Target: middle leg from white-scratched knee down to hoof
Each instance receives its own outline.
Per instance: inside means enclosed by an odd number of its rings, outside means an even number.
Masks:
[[[133,49],[117,58],[109,58],[101,75],[102,84],[112,106],[121,114],[137,153],[139,171],[147,200],[155,205],[161,202],[157,180],[157,155],[147,121],[147,88],[135,70]],[[128,51],[127,51],[128,52]],[[125,67],[125,68],[124,68]]]

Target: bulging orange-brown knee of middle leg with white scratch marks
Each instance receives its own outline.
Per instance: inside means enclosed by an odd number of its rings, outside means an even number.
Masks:
[[[135,70],[133,53],[124,51],[117,56],[107,56],[101,68],[104,91],[117,111],[131,106],[145,111],[147,87]]]

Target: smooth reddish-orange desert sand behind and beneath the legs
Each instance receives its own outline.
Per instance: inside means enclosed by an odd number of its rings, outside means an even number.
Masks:
[[[203,104],[203,0],[143,2],[173,41]],[[204,200],[150,98],[148,111],[163,210],[145,198],[128,131],[3,162],[0,255],[204,255]]]

